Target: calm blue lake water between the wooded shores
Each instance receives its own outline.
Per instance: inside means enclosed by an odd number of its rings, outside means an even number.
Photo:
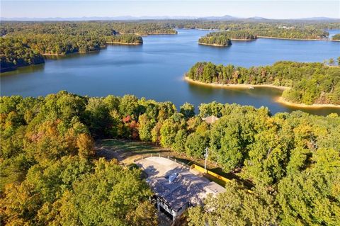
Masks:
[[[340,43],[327,41],[259,39],[233,41],[231,47],[198,45],[207,30],[178,30],[178,35],[149,35],[140,46],[109,45],[99,52],[46,60],[44,65],[23,67],[1,74],[1,95],[45,96],[60,90],[89,96],[135,94],[157,101],[219,101],[256,107],[272,113],[302,110],[318,115],[339,113],[339,108],[292,108],[274,101],[278,89],[215,89],[188,84],[183,74],[196,62],[244,67],[273,64],[278,60],[322,62],[340,55]],[[336,31],[333,30],[334,33]],[[340,30],[338,30],[340,33]]]

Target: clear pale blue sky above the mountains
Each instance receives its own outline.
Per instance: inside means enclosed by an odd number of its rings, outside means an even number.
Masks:
[[[92,16],[262,16],[266,18],[340,18],[340,1],[4,1],[1,17]]]

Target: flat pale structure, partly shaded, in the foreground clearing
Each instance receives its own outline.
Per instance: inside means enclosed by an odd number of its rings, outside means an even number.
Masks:
[[[188,207],[202,205],[209,193],[216,195],[225,188],[203,176],[163,157],[148,157],[136,162],[147,176],[147,183],[154,191],[157,209],[179,217]]]

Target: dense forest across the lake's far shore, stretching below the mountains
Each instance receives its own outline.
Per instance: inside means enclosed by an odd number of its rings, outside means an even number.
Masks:
[[[85,21],[85,22],[6,22],[1,23],[1,72],[42,63],[41,55],[90,52],[108,43],[141,44],[136,35],[176,34],[174,28],[227,30],[200,39],[209,45],[231,45],[228,39],[273,38],[324,39],[324,29],[340,28],[339,22],[317,21]],[[223,34],[223,35],[222,35]],[[208,38],[209,36],[209,38]],[[336,36],[335,36],[336,38]],[[335,40],[334,38],[334,40]]]

